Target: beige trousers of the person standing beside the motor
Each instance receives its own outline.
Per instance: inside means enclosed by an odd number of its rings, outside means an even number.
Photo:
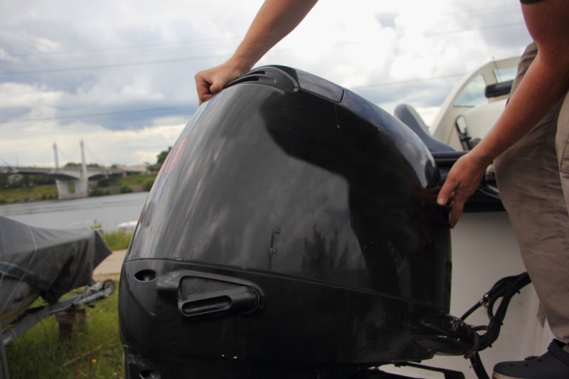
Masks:
[[[512,92],[537,53],[524,51]],[[569,343],[569,97],[495,161],[500,195],[555,337]]]

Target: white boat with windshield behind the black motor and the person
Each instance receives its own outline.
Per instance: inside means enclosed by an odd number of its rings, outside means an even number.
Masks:
[[[398,105],[394,115],[414,130],[420,130],[419,134],[424,133],[456,151],[472,149],[504,110],[518,61],[519,56],[491,60],[465,75],[447,95],[429,125],[413,105]],[[486,176],[492,175],[490,166]],[[499,194],[497,188],[481,189]],[[452,314],[461,314],[472,301],[482,299],[480,294],[489,282],[525,271],[508,216],[499,207],[484,213],[464,213],[451,232],[451,240]],[[504,320],[501,337],[492,348],[480,353],[487,368],[502,361],[541,356],[553,338],[532,286],[523,289],[515,300]],[[486,314],[479,310],[472,317],[482,323]],[[432,363],[460,370],[468,379],[477,378],[469,361],[437,356]]]

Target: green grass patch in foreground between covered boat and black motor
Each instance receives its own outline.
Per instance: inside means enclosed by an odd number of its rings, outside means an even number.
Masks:
[[[124,376],[118,324],[118,283],[106,299],[87,307],[87,323],[61,338],[54,316],[44,319],[6,347],[11,379],[110,379]]]

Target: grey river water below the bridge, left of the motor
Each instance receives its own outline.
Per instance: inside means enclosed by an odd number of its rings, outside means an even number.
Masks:
[[[90,228],[100,223],[105,231],[116,230],[125,220],[137,220],[148,192],[36,201],[0,205],[0,215],[31,226],[52,229]]]

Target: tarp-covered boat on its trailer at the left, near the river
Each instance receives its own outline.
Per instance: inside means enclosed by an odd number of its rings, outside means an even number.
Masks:
[[[112,294],[114,281],[92,278],[110,254],[95,230],[36,228],[0,216],[1,348],[48,316]],[[43,303],[32,307],[39,297]]]

